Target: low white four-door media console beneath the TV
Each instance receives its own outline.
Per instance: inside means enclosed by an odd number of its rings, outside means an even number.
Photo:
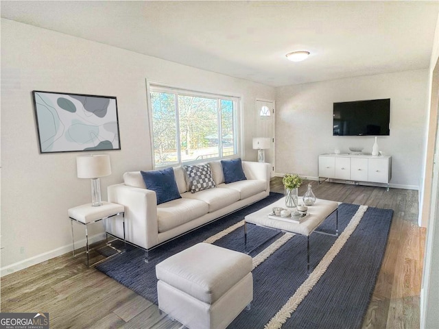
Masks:
[[[318,180],[385,183],[392,178],[391,156],[364,154],[321,154],[318,156]]]

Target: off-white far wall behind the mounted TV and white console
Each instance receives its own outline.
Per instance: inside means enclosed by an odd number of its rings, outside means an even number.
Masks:
[[[391,186],[418,189],[423,166],[427,70],[353,77],[276,88],[276,172],[318,176],[318,155],[364,147],[373,136],[333,136],[333,103],[390,98],[390,136],[379,149],[392,156]]]

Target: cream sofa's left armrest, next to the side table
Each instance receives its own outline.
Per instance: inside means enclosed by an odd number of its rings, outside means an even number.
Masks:
[[[125,184],[111,185],[108,186],[108,201],[125,206],[127,241],[145,249],[158,244],[157,199],[154,191]],[[121,236],[121,224],[118,228],[114,223],[107,230]]]

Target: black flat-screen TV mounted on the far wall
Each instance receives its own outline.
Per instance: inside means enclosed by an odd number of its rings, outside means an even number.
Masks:
[[[390,98],[334,103],[334,136],[389,136]]]

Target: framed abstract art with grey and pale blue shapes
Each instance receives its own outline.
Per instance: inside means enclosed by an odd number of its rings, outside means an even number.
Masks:
[[[121,149],[117,99],[32,91],[40,153]]]

